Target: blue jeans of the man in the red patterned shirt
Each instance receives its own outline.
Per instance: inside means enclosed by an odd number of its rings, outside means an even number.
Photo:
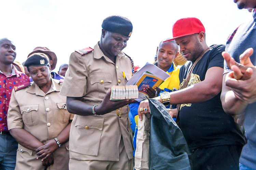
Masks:
[[[0,135],[0,170],[14,170],[18,143],[11,135]]]

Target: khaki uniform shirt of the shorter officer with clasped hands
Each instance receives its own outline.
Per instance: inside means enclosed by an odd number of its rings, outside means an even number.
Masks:
[[[59,95],[58,80],[51,80],[51,88],[46,94],[35,83],[18,91],[13,89],[8,110],[9,130],[23,128],[41,142],[45,142],[57,137],[69,124],[74,115],[63,108],[66,97]],[[41,159],[36,157],[35,151],[18,145],[16,170],[31,167],[43,169]],[[54,157],[54,164],[50,169],[68,169],[68,142],[54,152]]]

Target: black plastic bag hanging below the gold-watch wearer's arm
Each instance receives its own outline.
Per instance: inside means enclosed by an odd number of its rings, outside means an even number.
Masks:
[[[180,128],[162,103],[156,99],[149,99],[149,104],[150,170],[192,169],[191,153]]]

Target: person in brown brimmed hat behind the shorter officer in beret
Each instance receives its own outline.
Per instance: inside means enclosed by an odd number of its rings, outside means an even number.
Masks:
[[[52,52],[47,47],[35,47],[31,53],[28,54],[28,57],[33,53],[44,53],[47,55],[49,59],[49,63],[51,65],[52,70],[55,69],[57,64],[57,56],[54,52]],[[62,75],[57,74],[56,72],[51,72],[51,77],[56,80],[64,79]]]

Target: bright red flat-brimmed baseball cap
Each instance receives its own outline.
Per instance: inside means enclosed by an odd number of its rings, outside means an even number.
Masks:
[[[184,37],[187,35],[192,35],[195,33],[205,32],[205,28],[202,22],[197,18],[181,18],[177,20],[172,26],[173,38],[167,39],[166,41],[171,41],[176,38]]]

